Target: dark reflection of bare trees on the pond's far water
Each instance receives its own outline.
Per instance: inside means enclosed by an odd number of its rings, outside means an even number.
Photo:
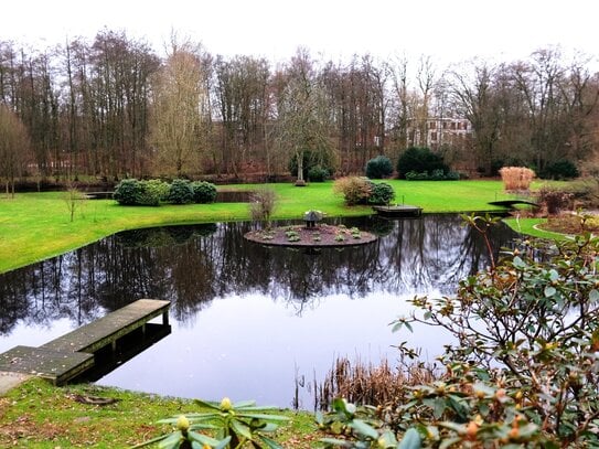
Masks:
[[[328,295],[351,298],[373,291],[397,293],[438,288],[488,265],[479,235],[454,215],[349,226],[384,231],[373,244],[321,250],[266,247],[245,240],[249,223],[139,229],[115,235],[64,256],[0,276],[0,332],[18,320],[46,323],[95,319],[99,308],[118,309],[136,299],[173,302],[178,320],[213,298],[261,293],[289,301],[298,313]],[[503,231],[493,238],[505,244]]]

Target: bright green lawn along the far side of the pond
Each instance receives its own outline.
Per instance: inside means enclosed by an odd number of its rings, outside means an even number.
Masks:
[[[490,201],[509,199],[500,181],[391,180],[396,202],[419,205],[425,213],[489,211]],[[259,185],[229,185],[225,189],[255,190]],[[347,207],[332,191],[332,182],[307,188],[269,184],[279,197],[274,218],[300,218],[310,209],[329,216],[371,214],[367,206]],[[23,193],[0,199],[0,272],[52,257],[95,242],[119,231],[171,224],[211,223],[249,218],[247,204],[215,203],[162,205],[160,207],[119,206],[113,200],[83,203],[75,220],[64,193]]]

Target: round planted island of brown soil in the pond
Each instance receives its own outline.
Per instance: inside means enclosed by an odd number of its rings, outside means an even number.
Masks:
[[[263,245],[320,248],[364,245],[374,242],[376,236],[356,227],[319,224],[315,226],[295,225],[250,231],[245,235],[245,238]]]

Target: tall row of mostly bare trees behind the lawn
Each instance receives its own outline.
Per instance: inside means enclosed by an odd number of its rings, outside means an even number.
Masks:
[[[338,173],[427,146],[430,118],[472,133],[434,149],[459,169],[543,171],[597,152],[599,74],[558,49],[526,61],[288,61],[213,55],[171,39],[160,57],[125,32],[43,50],[0,42],[0,175],[269,179],[309,153]]]

